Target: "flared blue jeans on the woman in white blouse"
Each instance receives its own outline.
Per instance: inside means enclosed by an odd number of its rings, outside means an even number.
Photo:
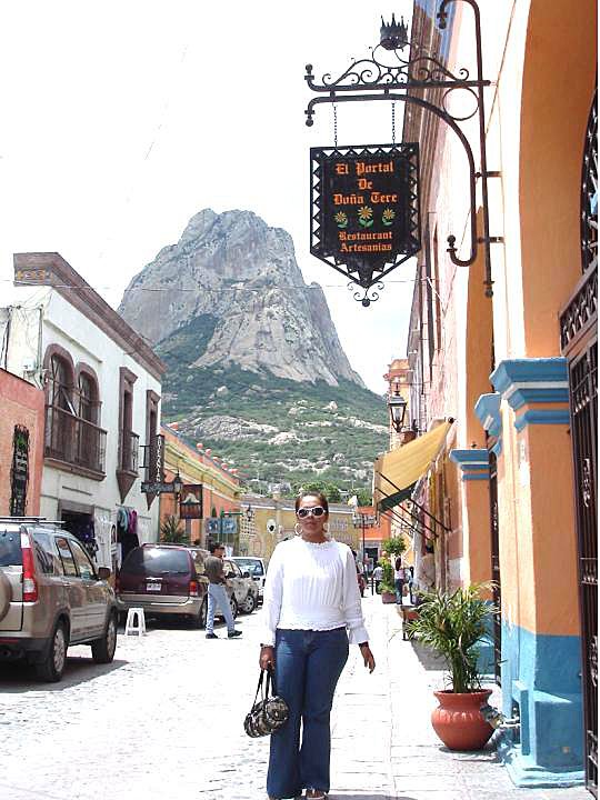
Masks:
[[[277,631],[276,689],[288,703],[290,717],[283,728],[271,734],[267,776],[270,797],[293,798],[304,788],[329,791],[329,716],[347,660],[344,628]]]

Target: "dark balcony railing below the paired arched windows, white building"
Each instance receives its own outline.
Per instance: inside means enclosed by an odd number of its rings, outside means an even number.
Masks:
[[[46,458],[104,474],[107,431],[57,406],[46,407]]]

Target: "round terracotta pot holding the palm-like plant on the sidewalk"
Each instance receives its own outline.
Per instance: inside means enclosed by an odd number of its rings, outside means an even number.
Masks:
[[[481,750],[493,733],[480,707],[491,694],[489,689],[469,694],[433,692],[438,702],[431,713],[433,730],[450,750]]]

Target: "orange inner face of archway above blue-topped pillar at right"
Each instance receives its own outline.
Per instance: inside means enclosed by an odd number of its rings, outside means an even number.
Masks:
[[[581,153],[598,31],[597,3],[588,6],[573,13],[571,0],[532,0],[529,13],[519,191],[530,358],[560,354],[558,312],[581,274]]]

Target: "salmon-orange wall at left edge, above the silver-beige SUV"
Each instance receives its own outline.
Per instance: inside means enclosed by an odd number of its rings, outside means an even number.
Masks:
[[[40,512],[44,396],[41,389],[0,369],[0,514],[10,513],[10,469],[14,426],[29,430],[28,516]]]

